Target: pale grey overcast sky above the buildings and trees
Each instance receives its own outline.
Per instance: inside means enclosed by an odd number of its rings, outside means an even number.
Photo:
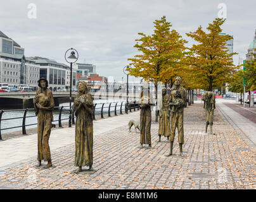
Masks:
[[[28,18],[30,3],[37,18]],[[123,68],[136,54],[138,32],[153,33],[153,21],[163,15],[188,46],[193,32],[218,17],[220,3],[227,6],[224,33],[234,37],[234,51],[245,59],[256,29],[255,0],[9,0],[1,1],[0,30],[25,48],[25,56],[65,62],[65,50],[74,47],[79,61],[96,65],[101,76],[126,80]],[[234,56],[238,64],[238,56]]]

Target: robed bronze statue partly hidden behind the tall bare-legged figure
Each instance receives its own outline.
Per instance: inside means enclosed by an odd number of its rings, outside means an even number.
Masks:
[[[169,140],[170,136],[170,109],[169,109],[169,95],[167,94],[167,89],[163,88],[162,90],[162,109],[160,110],[160,121],[159,121],[159,129],[158,136],[161,141],[161,136],[167,137]]]

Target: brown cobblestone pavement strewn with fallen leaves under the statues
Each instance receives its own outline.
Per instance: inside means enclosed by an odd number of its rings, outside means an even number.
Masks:
[[[152,113],[154,114],[154,113]],[[138,117],[137,117],[138,118]],[[152,119],[155,120],[155,119]],[[255,189],[255,145],[222,117],[214,114],[214,133],[204,133],[201,102],[184,111],[184,155],[174,155],[158,140],[152,122],[152,148],[139,148],[139,133],[127,125],[94,138],[94,170],[74,174],[74,143],[52,153],[54,167],[35,167],[36,157],[0,170],[0,188],[13,189]]]

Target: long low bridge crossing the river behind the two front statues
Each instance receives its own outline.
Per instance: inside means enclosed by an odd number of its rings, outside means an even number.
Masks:
[[[126,92],[90,92],[94,99],[114,99],[115,100],[126,100]],[[72,99],[74,100],[77,92],[72,92]],[[58,106],[60,103],[69,102],[70,92],[53,92],[54,105]],[[132,100],[139,100],[138,93],[129,93],[129,98]],[[10,108],[32,108],[33,98],[35,92],[1,92],[0,93],[0,109],[2,107]]]

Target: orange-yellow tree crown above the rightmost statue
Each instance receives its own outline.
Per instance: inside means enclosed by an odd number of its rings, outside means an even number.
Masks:
[[[236,53],[228,53],[227,40],[233,39],[230,35],[220,35],[221,25],[224,19],[216,18],[208,24],[208,33],[203,31],[202,26],[195,32],[186,33],[196,41],[189,50],[193,56],[189,56],[189,64],[193,68],[193,79],[203,90],[212,91],[227,83],[236,67],[232,56]]]

